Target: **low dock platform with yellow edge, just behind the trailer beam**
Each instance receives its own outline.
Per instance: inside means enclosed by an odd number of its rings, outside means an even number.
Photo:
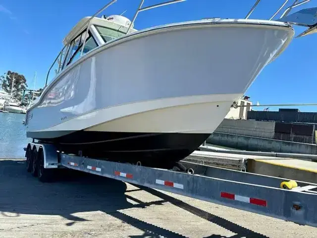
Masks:
[[[247,154],[249,151],[232,153],[229,149],[218,149],[213,146],[202,146],[201,149],[217,149],[217,152],[195,151],[186,161],[204,161],[211,166],[239,171],[246,168],[247,172],[253,174],[317,183],[317,163],[310,161],[310,155],[307,155],[308,158],[305,160],[306,158],[273,157],[269,156],[270,153],[266,153],[268,156]]]

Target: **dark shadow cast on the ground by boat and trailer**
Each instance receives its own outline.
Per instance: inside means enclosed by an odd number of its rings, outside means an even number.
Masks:
[[[66,170],[63,171],[66,172]],[[161,236],[184,238],[180,234],[120,212],[123,209],[145,208],[150,205],[162,205],[164,202],[170,202],[235,233],[236,235],[231,238],[265,237],[155,189],[137,187],[139,189],[136,190],[145,190],[161,198],[161,200],[142,202],[125,194],[127,186],[122,181],[70,170],[67,170],[67,173],[61,172],[56,182],[42,183],[26,172],[24,161],[0,160],[0,214],[2,216],[19,217],[20,214],[59,215],[68,220],[66,226],[72,226],[77,222],[88,221],[74,214],[102,211],[144,232],[141,236],[130,236],[130,238]],[[132,204],[127,199],[138,204]],[[208,238],[220,237],[224,238],[218,235],[212,235]]]

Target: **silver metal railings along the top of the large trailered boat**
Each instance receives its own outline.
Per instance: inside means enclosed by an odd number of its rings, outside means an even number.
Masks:
[[[85,24],[83,24],[82,28],[81,28],[81,31],[85,30],[86,29],[86,35],[88,34],[89,32],[89,28],[90,28],[90,24],[91,24],[91,20],[96,17],[98,14],[100,14],[102,11],[104,11],[108,6],[112,5],[114,2],[116,2],[117,0],[111,0],[110,2],[108,2],[104,7],[102,7],[100,10],[98,10],[93,16],[91,16],[86,22]],[[138,9],[136,10],[136,12],[134,13],[134,16],[132,18],[132,21],[128,27],[128,30],[126,32],[126,34],[129,34],[130,30],[131,30],[131,27],[133,26],[134,24],[134,21],[136,20],[139,12],[141,11],[145,11],[145,10],[149,10],[149,9],[153,9],[153,8],[156,8],[156,7],[159,7],[159,6],[164,6],[164,5],[169,5],[169,4],[173,4],[173,3],[177,3],[177,2],[182,2],[182,1],[186,1],[186,0],[169,0],[169,1],[164,1],[164,2],[161,2],[161,3],[158,3],[158,4],[154,4],[154,5],[150,5],[150,6],[146,6],[146,7],[142,7],[143,6],[143,3],[144,3],[145,0],[141,0],[140,1],[140,4],[139,4],[139,7]],[[249,10],[248,14],[245,16],[245,19],[248,19],[251,14],[254,12],[255,8],[259,5],[261,0],[256,0],[255,4],[251,7],[251,9]],[[282,9],[283,7],[286,5],[286,3],[288,2],[289,0],[284,0],[283,4],[274,12],[274,14],[269,18],[269,20],[272,20]],[[310,0],[302,0],[299,2],[299,0],[294,0],[294,2],[292,3],[291,6],[287,7],[285,9],[285,11],[281,14],[280,18],[278,20],[282,21],[283,19],[282,18],[285,18],[289,12],[297,7],[297,6],[300,6],[304,3],[307,3],[309,2]],[[55,62],[57,61],[58,63],[58,66],[57,66],[57,69],[56,70],[56,74],[58,74],[60,72],[60,70],[62,69],[62,65],[63,65],[63,51],[65,50],[66,47],[68,47],[69,43],[72,41],[73,39],[69,39],[67,41],[67,43],[64,44],[64,47],[61,49],[61,51],[59,52],[58,56],[55,58],[55,60],[53,61],[48,73],[47,73],[47,77],[46,77],[46,82],[45,82],[45,87],[47,86],[48,84],[48,79],[49,79],[49,75],[50,75],[50,72],[55,64]],[[85,48],[85,43],[86,41],[84,41],[83,43],[83,46],[82,46],[82,49],[81,49],[81,53],[80,53],[80,57],[83,55],[83,51],[84,51],[84,48]]]

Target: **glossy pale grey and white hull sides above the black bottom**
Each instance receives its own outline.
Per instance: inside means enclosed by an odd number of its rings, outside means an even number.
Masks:
[[[28,110],[27,136],[211,134],[294,31],[202,22],[137,32],[68,66]]]

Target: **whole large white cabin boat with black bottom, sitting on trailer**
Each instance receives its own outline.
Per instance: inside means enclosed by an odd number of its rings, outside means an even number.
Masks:
[[[91,158],[177,163],[282,54],[298,19],[283,21],[295,3],[277,20],[272,18],[285,4],[269,20],[249,19],[257,0],[242,19],[137,30],[139,12],[184,0],[147,7],[142,0],[132,20],[98,16],[115,1],[81,19],[63,39],[41,97],[26,112],[27,137]],[[314,27],[307,25],[309,31]]]

